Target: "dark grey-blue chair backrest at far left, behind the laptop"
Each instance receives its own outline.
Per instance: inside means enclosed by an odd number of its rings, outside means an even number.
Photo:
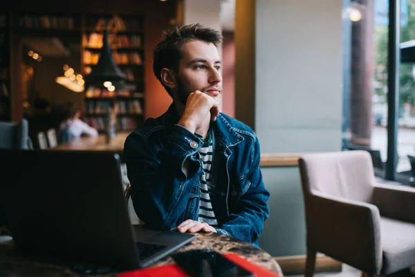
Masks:
[[[28,120],[19,123],[0,122],[0,148],[28,149]]]

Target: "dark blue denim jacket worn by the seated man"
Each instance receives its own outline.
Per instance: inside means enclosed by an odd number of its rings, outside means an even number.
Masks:
[[[200,175],[196,153],[199,135],[176,125],[174,105],[158,118],[149,118],[124,144],[134,209],[151,228],[172,229],[199,218]],[[259,142],[250,127],[220,114],[211,123],[214,155],[210,200],[218,233],[257,244],[268,218],[269,193],[259,169]],[[187,174],[182,170],[188,159]]]

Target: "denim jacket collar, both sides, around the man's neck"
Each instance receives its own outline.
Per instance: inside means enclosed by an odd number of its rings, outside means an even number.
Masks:
[[[161,118],[164,126],[172,126],[178,123],[180,116],[177,114],[174,103],[170,105],[169,109],[167,109]],[[243,136],[234,130],[234,127],[230,125],[229,121],[222,114],[219,114],[216,121],[211,124],[216,138],[225,146],[231,147],[243,141]]]

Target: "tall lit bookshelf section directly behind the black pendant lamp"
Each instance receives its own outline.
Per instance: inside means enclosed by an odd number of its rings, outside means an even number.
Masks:
[[[127,75],[127,89],[90,87],[85,92],[85,120],[104,132],[107,110],[117,107],[117,129],[131,131],[144,121],[144,19],[140,15],[85,14],[82,19],[82,75],[98,63],[103,30],[109,32],[113,61]]]

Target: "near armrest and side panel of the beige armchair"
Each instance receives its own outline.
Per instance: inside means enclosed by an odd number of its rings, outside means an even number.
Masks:
[[[378,274],[382,267],[378,208],[320,192],[306,198],[308,247]]]

